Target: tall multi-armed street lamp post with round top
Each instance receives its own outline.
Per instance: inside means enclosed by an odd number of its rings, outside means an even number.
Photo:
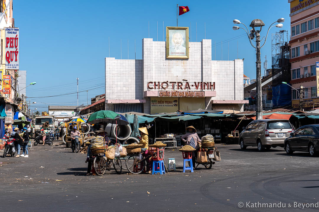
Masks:
[[[284,18],[279,18],[277,21],[275,21],[274,23],[272,24],[275,24],[276,22],[278,23],[282,23],[284,22],[285,19]],[[240,20],[238,19],[234,19],[233,20],[233,23],[234,24],[243,24],[240,22]],[[272,25],[271,24],[271,25]],[[263,119],[263,100],[261,98],[262,96],[262,86],[261,86],[261,62],[260,62],[260,49],[263,47],[263,45],[266,43],[266,40],[267,40],[267,37],[268,37],[268,32],[270,30],[271,27],[278,27],[278,28],[281,28],[283,27],[283,24],[277,24],[277,25],[273,25],[268,28],[268,31],[267,31],[267,35],[266,35],[266,38],[265,38],[265,42],[263,43],[262,46],[260,46],[260,42],[263,41],[260,40],[260,31],[261,29],[263,28],[263,26],[265,25],[263,23],[262,20],[260,19],[254,19],[251,23],[250,23],[250,27],[252,27],[252,29],[250,30],[250,33],[248,34],[249,30],[247,28],[247,26],[245,24],[243,24],[246,29],[242,28],[242,27],[238,27],[238,26],[233,26],[233,30],[238,30],[238,29],[243,29],[246,31],[246,34],[249,38],[249,42],[250,44],[252,45],[252,47],[254,47],[256,49],[256,97],[257,97],[257,108],[256,108],[256,120],[258,119]],[[260,27],[259,30],[255,29],[255,27]],[[251,42],[251,40],[254,40],[256,36],[256,46],[254,46],[254,44]]]

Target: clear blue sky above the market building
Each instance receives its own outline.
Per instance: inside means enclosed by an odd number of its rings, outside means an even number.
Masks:
[[[48,105],[76,105],[76,93],[54,96],[77,91],[76,78],[79,78],[79,91],[88,91],[88,101],[95,95],[104,93],[104,58],[128,58],[127,39],[129,39],[129,59],[142,58],[142,39],[163,40],[163,21],[165,26],[176,25],[176,4],[189,6],[190,11],[179,17],[179,26],[190,26],[192,41],[205,38],[216,41],[216,59],[234,60],[245,58],[244,73],[251,79],[256,77],[256,54],[250,46],[243,30],[233,31],[232,20],[239,19],[249,26],[259,18],[265,23],[261,35],[266,36],[269,24],[280,17],[286,19],[284,27],[290,34],[289,4],[286,0],[276,1],[29,1],[15,0],[13,17],[15,26],[20,28],[20,69],[27,70],[26,96],[31,98],[31,109],[47,111]],[[258,7],[256,7],[258,2]],[[158,34],[157,34],[158,22]],[[243,26],[243,25],[242,25]],[[278,31],[273,27],[267,42],[261,50],[262,67],[265,54],[268,68],[271,68],[271,33]],[[157,37],[158,36],[158,37]],[[165,35],[164,35],[165,39]],[[229,40],[230,39],[230,40]],[[229,54],[228,43],[229,41]],[[221,55],[221,44],[222,55]],[[212,47],[212,59],[215,48]],[[263,69],[262,69],[263,73]],[[121,88],[119,88],[121,89]],[[86,105],[87,93],[79,93],[79,103]]]

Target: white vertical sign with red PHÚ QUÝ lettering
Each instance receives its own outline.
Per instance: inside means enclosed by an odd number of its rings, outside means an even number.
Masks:
[[[5,69],[19,70],[19,28],[5,28]]]

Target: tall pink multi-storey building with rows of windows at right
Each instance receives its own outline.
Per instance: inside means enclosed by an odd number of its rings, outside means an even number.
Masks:
[[[316,62],[319,61],[319,1],[288,0],[290,3],[290,63],[292,89],[292,107],[300,108],[300,86],[304,87],[303,108],[319,106],[319,73]]]

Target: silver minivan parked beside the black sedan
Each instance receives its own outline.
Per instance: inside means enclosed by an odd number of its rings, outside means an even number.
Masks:
[[[264,148],[284,147],[284,141],[293,132],[289,120],[262,119],[254,120],[239,134],[241,149],[247,146],[257,146],[258,151]]]

